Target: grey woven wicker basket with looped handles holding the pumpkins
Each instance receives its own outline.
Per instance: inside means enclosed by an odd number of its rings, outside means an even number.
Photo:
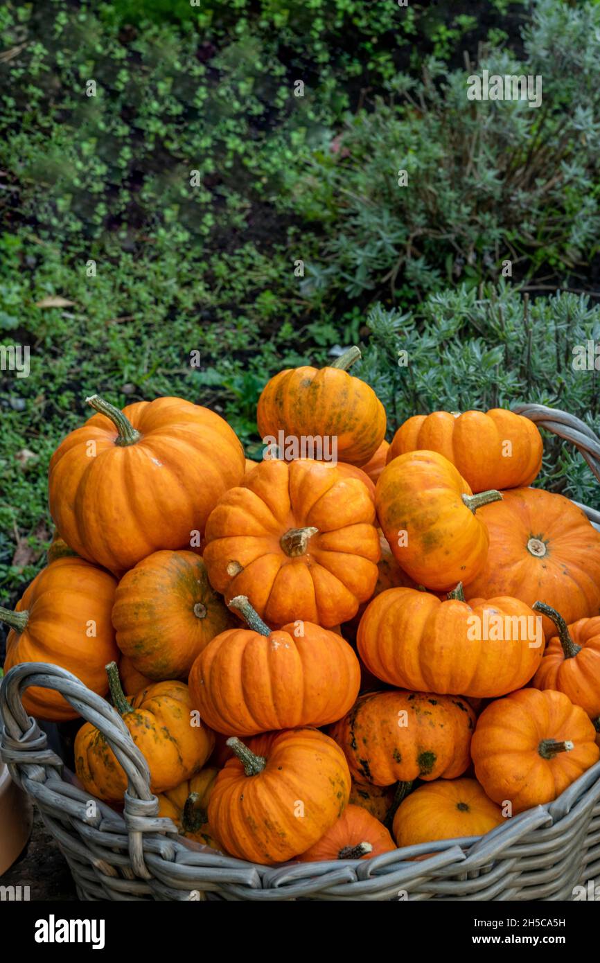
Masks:
[[[600,480],[600,443],[583,422],[541,405],[515,410],[573,442]],[[582,508],[600,529],[600,512]],[[129,780],[122,816],[69,781],[22,707],[28,686],[60,691],[106,736]],[[14,666],[0,688],[0,717],[2,757],[38,803],[81,899],[557,900],[572,899],[574,886],[600,876],[600,763],[555,802],[483,837],[407,846],[371,860],[265,867],[188,843],[171,820],[158,818],[145,760],[124,722],[70,672]],[[424,853],[433,855],[410,861]]]

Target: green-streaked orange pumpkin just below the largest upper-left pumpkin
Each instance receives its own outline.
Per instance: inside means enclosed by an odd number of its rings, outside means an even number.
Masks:
[[[153,552],[117,587],[117,645],[139,672],[155,681],[187,680],[211,638],[236,622],[194,552]]]

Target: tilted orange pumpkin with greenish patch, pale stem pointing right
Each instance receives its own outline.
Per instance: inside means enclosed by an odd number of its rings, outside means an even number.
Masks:
[[[448,590],[473,580],[483,568],[488,536],[475,512],[501,498],[498,491],[473,495],[447,458],[420,451],[388,463],[379,477],[376,506],[379,525],[404,571],[420,585]]]

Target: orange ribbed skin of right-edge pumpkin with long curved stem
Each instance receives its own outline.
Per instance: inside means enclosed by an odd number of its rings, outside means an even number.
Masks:
[[[560,638],[551,638],[532,686],[564,692],[594,719],[600,716],[600,616],[580,618],[568,631],[572,641],[581,645],[581,652],[565,659]]]

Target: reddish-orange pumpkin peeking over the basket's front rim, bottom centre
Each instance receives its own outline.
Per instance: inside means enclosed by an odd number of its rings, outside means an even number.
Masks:
[[[296,858],[300,863],[320,863],[333,859],[373,859],[395,849],[385,826],[362,806],[346,807],[339,820]]]

